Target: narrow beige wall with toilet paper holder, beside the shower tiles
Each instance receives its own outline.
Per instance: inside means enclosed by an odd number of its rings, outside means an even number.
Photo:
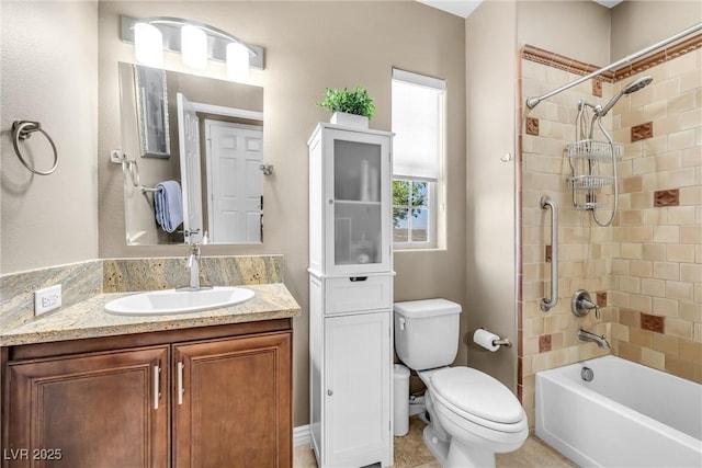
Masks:
[[[466,21],[467,364],[517,391],[514,161],[516,7],[484,2]],[[489,72],[486,72],[489,70]],[[485,328],[514,346],[472,342]]]

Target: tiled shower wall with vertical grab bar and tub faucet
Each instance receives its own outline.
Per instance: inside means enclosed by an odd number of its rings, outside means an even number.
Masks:
[[[526,56],[521,60],[520,102],[581,76],[567,65],[552,66],[545,52],[533,50]],[[587,81],[543,101],[531,111],[522,110],[521,114],[524,117],[519,138],[521,173],[518,174],[522,235],[518,392],[532,426],[535,421],[534,376],[539,370],[608,353],[595,343],[579,343],[576,331],[582,327],[609,336],[610,308],[602,308],[600,320],[595,313],[577,318],[570,312],[570,298],[577,289],[586,289],[593,299],[598,293],[600,300],[604,299],[611,282],[611,235],[609,229],[597,227],[588,212],[576,210],[573,206],[567,183],[571,171],[564,149],[566,142],[576,140],[578,101],[605,101],[611,96],[611,83]],[[607,124],[611,125],[611,119]],[[551,212],[541,208],[540,201],[544,195],[556,202],[559,218],[558,303],[548,312],[540,308],[542,298],[551,297]]]

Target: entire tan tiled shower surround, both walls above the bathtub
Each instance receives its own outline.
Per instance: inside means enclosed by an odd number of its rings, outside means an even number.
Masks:
[[[533,110],[519,111],[518,391],[532,426],[536,372],[610,353],[595,343],[579,343],[579,327],[605,334],[614,354],[702,380],[701,43],[698,37],[697,49],[673,59],[649,58],[641,67],[644,72],[620,71],[586,81]],[[522,103],[597,68],[529,46],[520,65]],[[621,99],[604,118],[614,141],[624,144],[624,155],[618,164],[619,213],[612,226],[600,227],[590,212],[573,206],[564,149],[577,139],[579,100],[604,104],[643,75],[654,82]],[[602,139],[597,132],[595,137]],[[601,165],[610,170],[610,164]],[[603,191],[598,202],[611,206],[610,193]],[[540,309],[541,299],[551,294],[551,219],[540,205],[543,195],[558,204],[559,215],[559,297],[548,312]],[[601,213],[605,220],[609,212]],[[601,319],[571,313],[577,289],[590,292],[602,306]]]

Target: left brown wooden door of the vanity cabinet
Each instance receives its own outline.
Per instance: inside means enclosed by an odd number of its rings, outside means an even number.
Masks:
[[[3,466],[169,466],[168,356],[157,346],[9,363]]]

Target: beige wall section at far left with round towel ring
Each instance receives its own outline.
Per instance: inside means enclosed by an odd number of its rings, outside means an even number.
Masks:
[[[98,2],[2,2],[0,273],[98,256]],[[50,175],[12,148],[12,122],[38,121],[56,145]],[[35,133],[21,144],[39,170],[53,162]]]

